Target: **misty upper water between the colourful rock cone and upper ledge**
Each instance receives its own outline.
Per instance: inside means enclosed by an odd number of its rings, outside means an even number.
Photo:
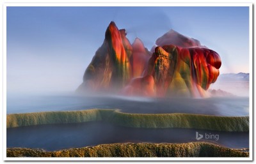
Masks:
[[[122,96],[7,97],[7,114],[91,108],[119,108],[128,113],[189,113],[214,116],[249,116],[249,98],[136,98]]]

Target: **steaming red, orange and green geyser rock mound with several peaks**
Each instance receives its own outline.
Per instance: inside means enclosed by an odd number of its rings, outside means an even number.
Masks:
[[[217,52],[200,41],[169,31],[156,41],[154,52],[143,42],[126,38],[111,22],[105,40],[86,68],[80,93],[118,93],[150,97],[204,97],[220,74]]]

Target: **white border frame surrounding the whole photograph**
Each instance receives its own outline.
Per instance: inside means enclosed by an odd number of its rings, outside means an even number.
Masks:
[[[6,157],[6,8],[8,6],[248,6],[250,39],[250,157],[247,158],[8,158]],[[252,161],[253,160],[253,4],[252,3],[4,3],[3,4],[3,160],[4,161]]]

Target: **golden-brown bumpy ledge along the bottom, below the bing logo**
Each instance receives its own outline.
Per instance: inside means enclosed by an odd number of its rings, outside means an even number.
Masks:
[[[103,144],[94,147],[47,152],[40,149],[7,148],[7,157],[248,157],[248,152],[205,142],[186,144]]]

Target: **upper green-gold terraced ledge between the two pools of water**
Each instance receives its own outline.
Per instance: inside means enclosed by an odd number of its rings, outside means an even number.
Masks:
[[[200,114],[128,114],[120,110],[91,109],[64,112],[35,112],[7,115],[7,128],[39,124],[106,121],[132,128],[195,128],[216,131],[249,131],[249,117]]]

